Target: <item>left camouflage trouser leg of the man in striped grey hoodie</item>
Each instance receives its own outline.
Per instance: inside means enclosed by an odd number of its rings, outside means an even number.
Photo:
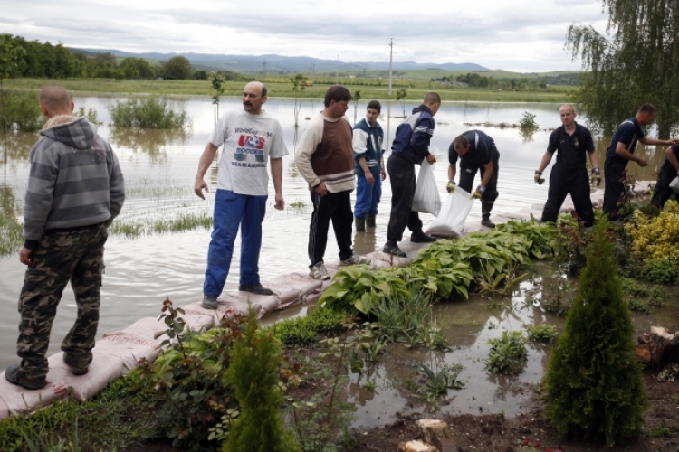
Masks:
[[[20,376],[41,379],[47,375],[45,358],[50,332],[63,288],[84,254],[79,231],[46,232],[33,250],[19,297],[19,338],[16,354],[22,359]]]

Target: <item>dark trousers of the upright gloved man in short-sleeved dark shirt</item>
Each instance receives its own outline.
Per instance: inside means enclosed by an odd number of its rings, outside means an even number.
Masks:
[[[550,191],[547,194],[541,221],[557,221],[559,209],[569,193],[579,220],[585,222],[585,227],[594,224],[587,167],[565,168],[559,163],[551,168]]]

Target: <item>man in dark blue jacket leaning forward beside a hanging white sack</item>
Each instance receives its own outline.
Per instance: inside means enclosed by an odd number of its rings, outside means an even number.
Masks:
[[[413,108],[413,114],[397,127],[391,145],[391,156],[387,160],[391,180],[391,216],[383,251],[397,258],[406,258],[406,253],[397,244],[403,239],[406,226],[412,232],[410,241],[435,241],[434,237],[422,231],[422,221],[412,208],[416,187],[415,165],[421,165],[424,159],[430,164],[436,161],[435,155],[429,153],[429,141],[434,133],[434,116],[439,107],[441,97],[435,92],[427,93],[422,105]]]

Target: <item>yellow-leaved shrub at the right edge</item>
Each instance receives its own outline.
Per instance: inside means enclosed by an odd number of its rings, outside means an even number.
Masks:
[[[675,259],[679,256],[679,204],[670,200],[655,218],[634,212],[634,222],[625,225],[632,237],[632,258],[649,260]]]

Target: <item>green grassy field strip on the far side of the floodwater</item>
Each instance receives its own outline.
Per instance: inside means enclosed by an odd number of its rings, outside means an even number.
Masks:
[[[417,71],[427,72],[427,71]],[[451,71],[445,71],[447,75]],[[254,79],[253,79],[254,80]],[[311,76],[310,76],[311,80]],[[335,77],[315,77],[313,86],[302,91],[304,98],[322,98]],[[263,80],[271,98],[292,98],[294,93],[288,76],[272,75]],[[395,99],[397,89],[407,89],[407,99],[422,99],[426,92],[435,90],[444,100],[492,101],[492,102],[566,102],[576,87],[550,86],[537,90],[493,90],[457,87],[424,79],[396,79],[392,83],[392,95],[388,95],[388,80],[376,78],[341,77],[337,81],[352,93],[360,90],[361,99]],[[213,91],[207,80],[113,80],[113,79],[7,79],[5,89],[37,91],[47,84],[59,84],[79,95],[126,95],[157,94],[166,96],[205,96]],[[240,96],[244,80],[227,81],[225,96]]]

